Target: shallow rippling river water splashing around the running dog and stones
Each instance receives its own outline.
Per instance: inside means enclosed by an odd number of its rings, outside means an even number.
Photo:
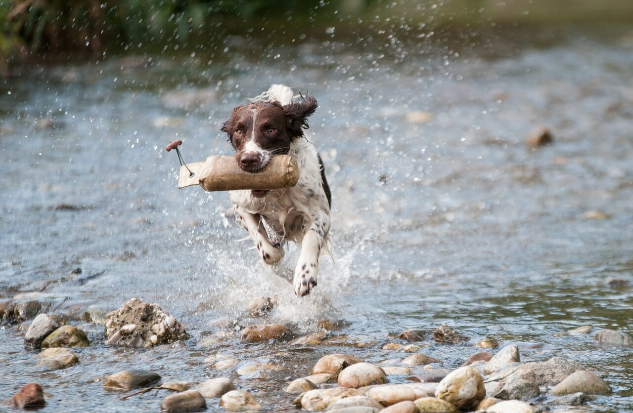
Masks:
[[[627,27],[366,28],[280,41],[230,36],[213,51],[25,67],[0,86],[0,298],[49,302],[87,331],[80,364],[42,373],[23,331],[0,330],[0,398],[37,381],[42,411],[158,409],[163,391],[117,401],[103,376],[146,368],[163,381],[232,375],[269,411],[294,410],[289,379],[324,354],[370,362],[388,333],[446,323],[467,345],[420,343],[457,367],[481,338],[520,343],[524,361],[562,355],[605,374],[613,394],[587,411],[633,409],[633,350],[563,333],[591,324],[630,333],[633,281],[633,32]],[[284,39],[288,40],[288,39]],[[220,50],[222,50],[220,52]],[[314,94],[310,119],[332,187],[335,260],[296,299],[287,281],[237,242],[228,195],[176,188],[186,161],[228,154],[220,125],[271,83]],[[407,120],[415,112],[422,123]],[[42,120],[53,120],[53,128]],[[532,130],[555,143],[533,151]],[[607,219],[588,219],[600,211]],[[72,275],[73,269],[80,274]],[[217,317],[247,317],[253,297],[277,295],[271,321],[316,330],[349,324],[329,343],[210,348],[197,343]],[[131,297],[157,302],[191,333],[184,347],[110,348],[85,309]],[[248,323],[248,321],[244,321]],[[204,366],[211,354],[240,364]],[[235,370],[284,366],[260,378]],[[391,381],[404,381],[394,376]],[[220,410],[215,401],[210,411]]]

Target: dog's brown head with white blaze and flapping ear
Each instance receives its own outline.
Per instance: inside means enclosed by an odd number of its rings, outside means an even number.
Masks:
[[[315,110],[313,96],[285,106],[279,102],[249,103],[233,109],[222,132],[229,135],[239,167],[256,172],[268,164],[271,156],[288,153],[292,140],[303,137],[307,118]]]

